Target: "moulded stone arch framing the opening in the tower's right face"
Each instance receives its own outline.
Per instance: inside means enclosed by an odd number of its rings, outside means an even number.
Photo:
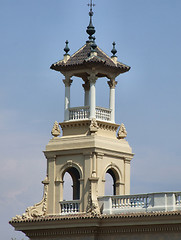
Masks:
[[[110,174],[113,180],[113,195],[120,194],[120,184],[122,183],[122,173],[120,169],[113,163],[109,164],[103,174],[103,182],[106,182],[106,173]]]

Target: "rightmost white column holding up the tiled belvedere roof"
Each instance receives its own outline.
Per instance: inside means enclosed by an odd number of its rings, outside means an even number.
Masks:
[[[111,109],[111,122],[115,122],[115,87],[117,82],[115,79],[111,79],[107,82],[110,87],[109,95],[109,108]]]

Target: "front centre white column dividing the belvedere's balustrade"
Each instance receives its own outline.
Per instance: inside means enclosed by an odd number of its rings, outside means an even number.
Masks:
[[[96,74],[90,74],[88,77],[90,82],[90,92],[89,92],[89,104],[90,104],[90,119],[96,118]]]

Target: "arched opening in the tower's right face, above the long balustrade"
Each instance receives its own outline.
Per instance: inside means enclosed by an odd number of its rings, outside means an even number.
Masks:
[[[119,176],[117,172],[109,168],[105,175],[105,195],[118,195],[117,182],[119,181]]]

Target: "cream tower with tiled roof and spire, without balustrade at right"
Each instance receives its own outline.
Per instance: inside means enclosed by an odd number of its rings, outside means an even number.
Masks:
[[[54,123],[53,138],[44,151],[47,176],[42,182],[42,201],[10,222],[31,239],[36,239],[36,227],[33,228],[35,235],[31,235],[31,227],[27,224],[28,229],[22,228],[20,223],[40,218],[45,220],[50,216],[99,216],[101,205],[98,200],[104,196],[106,173],[113,179],[114,195],[130,194],[130,161],[133,153],[125,140],[127,132],[124,124],[115,123],[116,78],[129,71],[130,67],[117,60],[115,42],[111,57],[96,45],[92,4],[89,16],[86,44],[70,56],[66,41],[63,60],[50,67],[64,76],[64,121]],[[84,106],[71,107],[70,89],[74,77],[82,79],[80,88],[84,91]],[[108,109],[96,106],[96,82],[100,78],[107,79],[110,90]],[[63,199],[66,172],[73,181],[72,201]]]

